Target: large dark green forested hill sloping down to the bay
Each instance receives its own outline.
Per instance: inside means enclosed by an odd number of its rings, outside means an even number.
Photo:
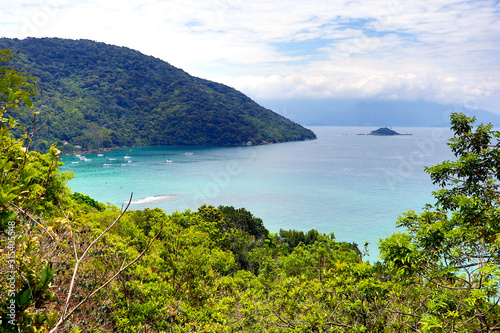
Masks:
[[[39,123],[49,118],[37,133],[40,150],[63,141],[69,150],[315,138],[233,88],[128,48],[89,40],[2,38],[0,49],[15,54],[11,68],[38,78]]]

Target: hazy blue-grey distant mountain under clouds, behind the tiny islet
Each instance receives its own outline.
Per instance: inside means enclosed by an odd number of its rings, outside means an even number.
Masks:
[[[474,115],[477,123],[500,126],[499,114],[427,101],[296,99],[260,103],[306,126],[448,127],[452,112]]]

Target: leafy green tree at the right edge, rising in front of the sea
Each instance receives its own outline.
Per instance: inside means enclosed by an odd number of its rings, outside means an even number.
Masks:
[[[500,325],[500,135],[491,125],[474,130],[474,120],[452,115],[449,146],[457,160],[426,168],[440,186],[436,203],[404,214],[398,226],[407,232],[380,244],[395,281],[420,286],[418,303],[400,312],[416,315],[413,327],[426,332],[490,332]]]

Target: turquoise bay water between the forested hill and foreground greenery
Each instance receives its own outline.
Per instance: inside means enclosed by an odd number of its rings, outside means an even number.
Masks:
[[[244,207],[271,232],[316,229],[339,241],[377,242],[398,216],[434,203],[424,172],[453,159],[449,128],[311,127],[317,140],[254,147],[141,147],[63,156],[69,186],[100,202],[167,213],[203,203]],[[102,155],[102,156],[101,156]]]

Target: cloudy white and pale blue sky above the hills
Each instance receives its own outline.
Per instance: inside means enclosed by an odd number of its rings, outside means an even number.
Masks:
[[[15,0],[0,36],[90,39],[269,99],[500,113],[500,0]]]

